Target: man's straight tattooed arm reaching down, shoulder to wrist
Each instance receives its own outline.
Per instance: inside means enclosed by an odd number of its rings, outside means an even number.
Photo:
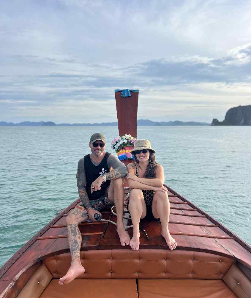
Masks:
[[[77,171],[77,185],[78,185],[78,194],[81,202],[86,207],[86,210],[91,207],[88,194],[86,192],[86,173],[84,159],[81,158],[78,161],[78,171]]]

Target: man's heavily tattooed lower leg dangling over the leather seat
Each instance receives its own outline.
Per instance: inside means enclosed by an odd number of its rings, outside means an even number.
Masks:
[[[85,272],[85,268],[80,261],[80,248],[82,243],[81,233],[78,224],[88,219],[86,210],[83,207],[77,207],[66,218],[66,226],[68,232],[68,243],[72,256],[72,264],[67,273],[59,279],[59,284],[64,285],[70,283],[79,275]]]

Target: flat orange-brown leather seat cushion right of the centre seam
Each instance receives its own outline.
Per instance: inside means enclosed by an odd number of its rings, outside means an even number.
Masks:
[[[237,298],[222,280],[138,280],[139,298]]]

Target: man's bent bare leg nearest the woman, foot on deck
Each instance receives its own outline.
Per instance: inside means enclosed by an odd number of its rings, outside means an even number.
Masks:
[[[111,202],[114,201],[116,205],[117,232],[119,234],[120,243],[122,246],[129,245],[130,237],[125,231],[123,223],[124,187],[122,178],[111,180],[110,187],[108,189],[108,199]]]

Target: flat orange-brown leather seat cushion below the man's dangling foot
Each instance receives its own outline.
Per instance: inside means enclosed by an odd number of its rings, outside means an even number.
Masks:
[[[75,279],[59,285],[53,279],[40,298],[138,298],[135,279]]]

